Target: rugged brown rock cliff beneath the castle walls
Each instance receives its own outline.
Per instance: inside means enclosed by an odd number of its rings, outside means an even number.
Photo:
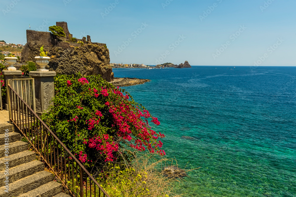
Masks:
[[[39,56],[41,43],[28,42],[22,51],[23,61],[34,61]],[[104,46],[95,44],[61,42],[53,46],[44,46],[50,57],[46,69],[61,74],[75,75],[80,72],[82,75],[99,74],[106,81],[113,80],[114,74],[110,66],[109,50]]]

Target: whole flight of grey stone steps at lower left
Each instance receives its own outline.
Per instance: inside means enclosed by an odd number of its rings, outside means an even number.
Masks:
[[[5,129],[9,130],[8,156],[4,149]],[[14,131],[12,124],[0,124],[0,197],[70,197],[62,193],[62,184],[53,181],[53,174],[44,171],[44,163],[36,160],[36,154],[28,151],[28,144],[20,139],[21,134]]]

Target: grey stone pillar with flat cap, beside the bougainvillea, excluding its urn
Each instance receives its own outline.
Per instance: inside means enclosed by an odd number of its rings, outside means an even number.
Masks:
[[[54,71],[31,71],[30,77],[34,78],[36,113],[40,116],[42,113],[49,111],[53,105],[50,102],[54,98]]]

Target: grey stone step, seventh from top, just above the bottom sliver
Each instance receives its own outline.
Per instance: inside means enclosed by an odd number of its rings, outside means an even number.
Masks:
[[[57,196],[57,194],[61,192],[62,192],[62,184],[55,181],[51,181],[27,193],[23,193],[18,197],[39,197],[39,196],[52,197],[52,196]]]

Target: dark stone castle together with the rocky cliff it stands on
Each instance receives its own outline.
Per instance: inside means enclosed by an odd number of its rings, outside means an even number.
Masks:
[[[99,74],[106,81],[112,81],[114,73],[110,66],[109,49],[105,43],[91,42],[89,35],[82,39],[73,39],[68,30],[67,22],[56,22],[62,27],[66,37],[58,37],[51,32],[27,30],[27,43],[22,50],[22,61],[35,62],[40,47],[50,57],[46,69],[60,74],[83,76]],[[78,41],[81,41],[77,43]]]

